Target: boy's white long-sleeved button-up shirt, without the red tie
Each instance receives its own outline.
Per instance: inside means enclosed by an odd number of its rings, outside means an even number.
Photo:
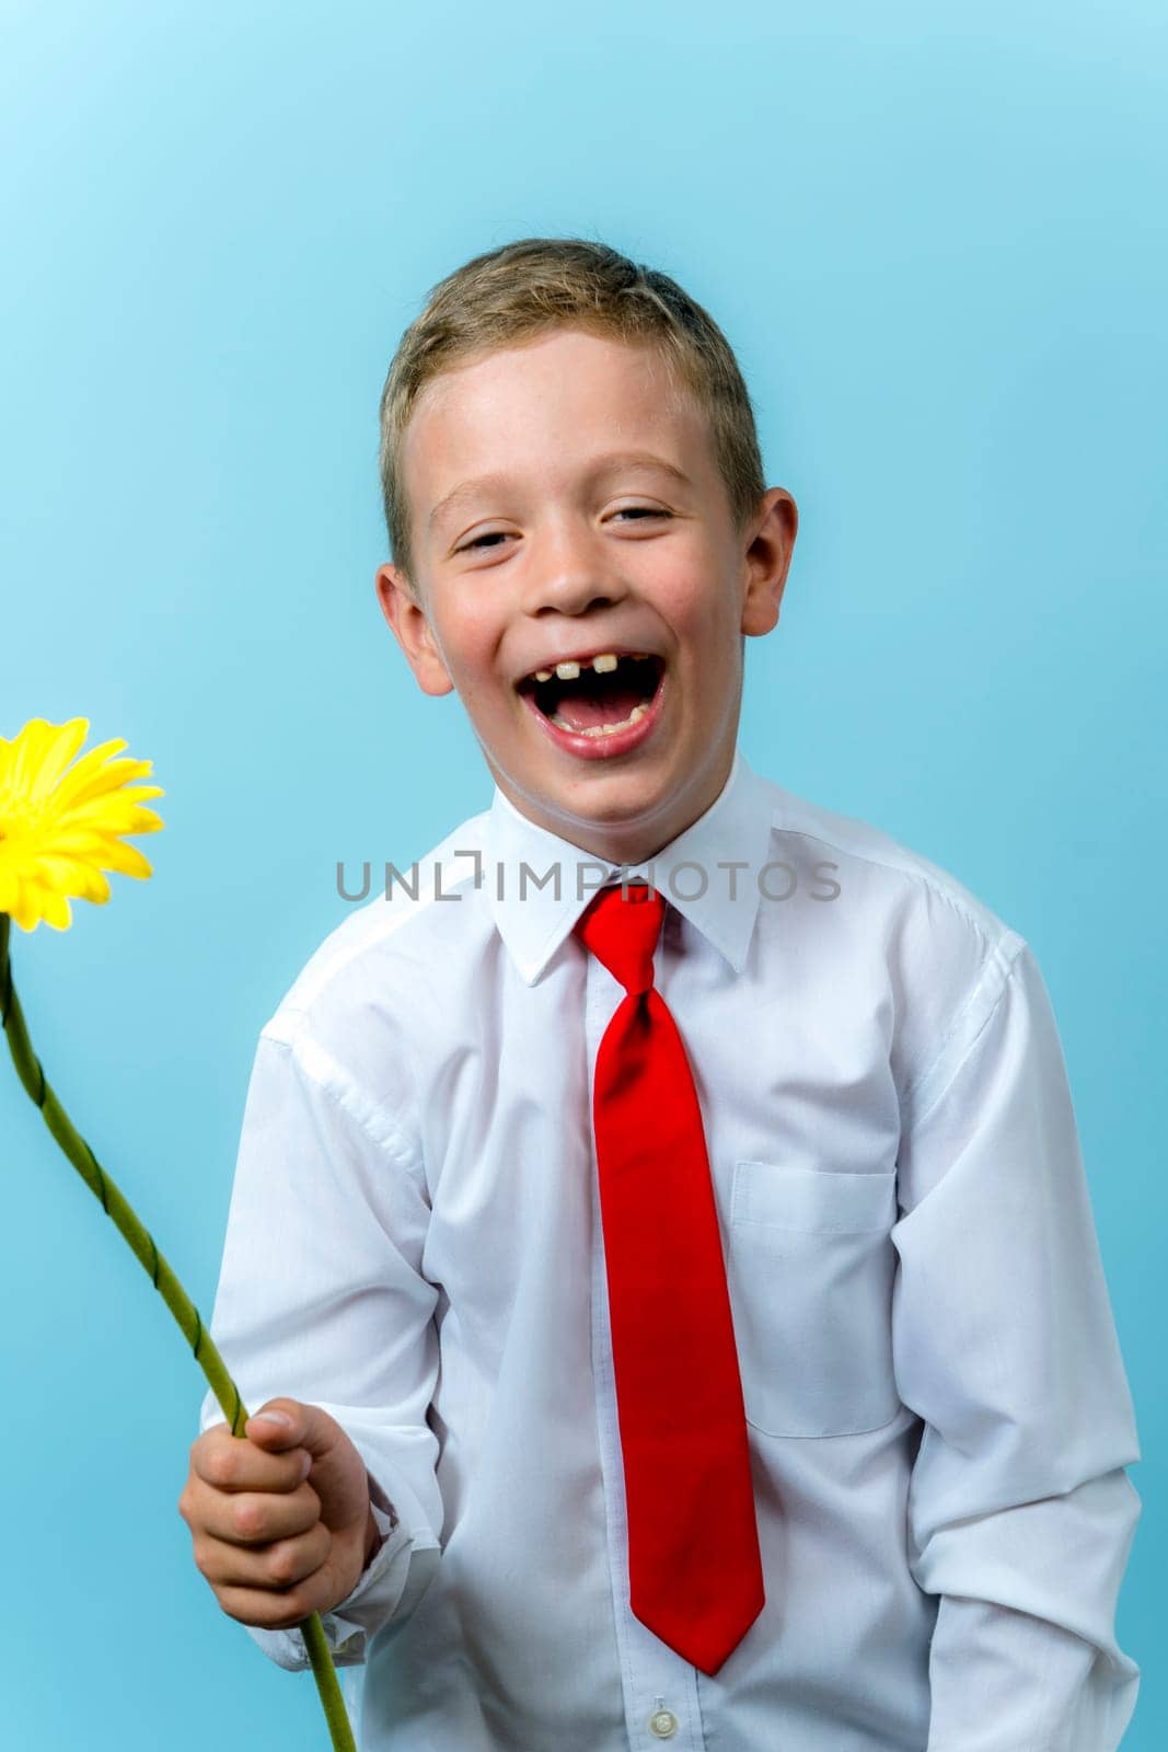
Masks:
[[[362,1752],[1114,1752],[1140,1447],[1030,946],[741,750],[625,872],[672,902],[767,1591],[707,1677],[629,1610],[590,1100],[623,992],[573,937],[622,869],[496,788],[382,874],[259,1037],[212,1314],[247,1407],[324,1407],[382,1493],[324,1617]]]

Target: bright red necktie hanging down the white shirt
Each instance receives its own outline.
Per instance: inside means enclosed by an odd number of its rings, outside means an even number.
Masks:
[[[665,901],[602,888],[576,925],[625,997],[594,1123],[637,1619],[716,1673],[763,1607],[746,1414],[693,1077],[653,951]]]

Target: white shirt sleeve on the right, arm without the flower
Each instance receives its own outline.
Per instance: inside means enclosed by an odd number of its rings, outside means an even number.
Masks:
[[[1014,934],[905,1097],[893,1356],[939,1594],[926,1752],[1114,1752],[1140,1459],[1063,1049]]]

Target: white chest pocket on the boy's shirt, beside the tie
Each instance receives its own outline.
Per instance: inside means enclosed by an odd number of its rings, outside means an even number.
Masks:
[[[735,1162],[727,1289],[746,1421],[763,1435],[860,1435],[900,1410],[895,1186],[895,1169]]]

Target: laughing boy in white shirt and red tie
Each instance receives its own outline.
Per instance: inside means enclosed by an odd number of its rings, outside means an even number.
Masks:
[[[382,473],[496,790],[261,1034],[212,1332],[284,1423],[203,1402],[201,1573],[285,1668],[324,1614],[364,1752],[1112,1752],[1140,1449],[1049,999],[737,748],[797,512],[725,338],[478,256]]]

